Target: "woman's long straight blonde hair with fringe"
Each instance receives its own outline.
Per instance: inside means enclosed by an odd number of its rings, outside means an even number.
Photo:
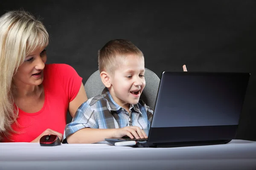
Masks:
[[[43,23],[28,12],[9,11],[0,17],[0,141],[14,132],[12,123],[17,123],[13,76],[29,53],[48,43]]]

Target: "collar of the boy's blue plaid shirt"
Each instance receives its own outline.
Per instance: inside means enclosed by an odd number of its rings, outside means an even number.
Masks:
[[[107,99],[108,101],[108,104],[107,107],[108,107],[108,110],[110,111],[118,111],[119,109],[122,109],[121,106],[119,106],[115,101],[114,99],[112,98],[111,94],[109,93],[109,90],[107,87],[104,88],[104,90],[102,91],[102,96]],[[138,104],[136,105],[131,105],[130,104],[130,111],[131,109],[133,109],[135,112],[137,113],[140,113],[140,108],[138,106]]]

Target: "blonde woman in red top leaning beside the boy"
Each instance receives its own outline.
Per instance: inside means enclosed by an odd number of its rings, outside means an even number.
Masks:
[[[45,64],[49,35],[26,11],[0,17],[0,142],[58,135],[87,100],[82,78],[66,64]]]

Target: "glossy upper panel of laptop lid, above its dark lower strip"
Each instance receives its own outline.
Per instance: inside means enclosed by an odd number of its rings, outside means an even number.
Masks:
[[[163,72],[151,127],[238,125],[249,77]]]

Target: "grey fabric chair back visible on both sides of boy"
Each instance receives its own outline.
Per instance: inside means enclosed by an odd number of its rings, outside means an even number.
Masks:
[[[146,105],[154,109],[160,79],[153,71],[145,68],[145,81],[146,85],[140,99],[142,99]],[[88,99],[102,93],[105,85],[101,81],[99,70],[95,71],[87,79],[84,88]]]

